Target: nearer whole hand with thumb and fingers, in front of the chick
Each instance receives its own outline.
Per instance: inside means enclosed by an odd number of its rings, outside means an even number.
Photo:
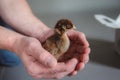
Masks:
[[[76,59],[57,63],[56,59],[42,48],[40,41],[32,37],[17,39],[14,52],[20,56],[28,73],[35,78],[62,78],[71,73],[77,65]]]

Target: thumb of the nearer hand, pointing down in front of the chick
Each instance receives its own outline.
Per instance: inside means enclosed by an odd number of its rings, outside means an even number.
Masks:
[[[36,54],[36,58],[38,62],[47,66],[47,67],[54,67],[57,64],[57,60],[54,56],[52,56],[48,51],[46,51],[42,46],[38,48]]]

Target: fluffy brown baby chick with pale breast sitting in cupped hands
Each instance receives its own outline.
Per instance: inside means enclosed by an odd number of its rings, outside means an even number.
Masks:
[[[75,26],[70,20],[59,20],[54,27],[55,34],[45,41],[43,47],[58,60],[70,46],[70,41],[66,32],[74,28]]]

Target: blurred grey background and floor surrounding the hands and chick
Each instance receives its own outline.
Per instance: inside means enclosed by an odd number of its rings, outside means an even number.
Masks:
[[[33,12],[47,26],[69,18],[90,43],[90,62],[76,76],[62,80],[120,80],[120,55],[114,50],[115,30],[94,19],[94,14],[105,14],[116,19],[120,0],[28,0]],[[0,80],[35,80],[23,65],[0,67]]]

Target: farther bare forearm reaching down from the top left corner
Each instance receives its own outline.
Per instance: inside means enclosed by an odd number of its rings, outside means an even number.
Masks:
[[[49,28],[36,18],[26,0],[0,0],[1,17],[17,31],[39,38]]]

